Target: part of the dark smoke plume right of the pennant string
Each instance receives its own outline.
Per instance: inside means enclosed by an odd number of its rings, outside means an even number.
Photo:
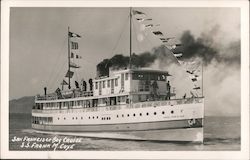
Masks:
[[[180,41],[182,46],[172,50],[174,53],[183,53],[182,60],[200,58],[203,64],[209,65],[212,61],[226,64],[240,64],[240,40],[232,41],[226,46],[216,39],[216,29],[202,33],[195,38],[190,31],[184,31]]]

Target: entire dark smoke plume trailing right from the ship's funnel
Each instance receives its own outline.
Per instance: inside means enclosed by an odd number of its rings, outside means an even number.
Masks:
[[[190,60],[199,58],[204,65],[209,65],[212,61],[225,64],[240,65],[240,40],[232,41],[229,44],[222,45],[216,39],[219,27],[215,26],[211,31],[202,33],[195,38],[190,31],[184,31],[180,37],[181,46],[172,50],[173,53],[183,53],[181,60]],[[155,47],[151,52],[139,54],[133,53],[131,56],[132,68],[149,67],[155,60],[159,61],[159,67],[165,67],[171,63],[177,63],[171,51],[164,45]],[[129,56],[122,54],[114,55],[110,59],[104,59],[97,65],[98,76],[109,74],[109,68],[125,69],[129,65]]]

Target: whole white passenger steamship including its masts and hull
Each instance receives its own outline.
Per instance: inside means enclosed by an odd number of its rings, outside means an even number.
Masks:
[[[131,60],[131,9],[129,17]],[[71,68],[78,68],[71,62],[71,49],[78,47],[71,38],[80,36],[68,33],[68,89],[51,94],[45,89],[35,97],[32,128],[87,137],[203,142],[203,96],[173,98],[167,71],[129,63],[127,69],[110,69],[108,76],[89,85],[71,87]]]

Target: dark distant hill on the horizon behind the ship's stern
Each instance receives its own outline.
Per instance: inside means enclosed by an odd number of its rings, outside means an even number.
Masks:
[[[31,113],[32,106],[34,103],[34,96],[22,97],[9,101],[9,112],[10,113]]]

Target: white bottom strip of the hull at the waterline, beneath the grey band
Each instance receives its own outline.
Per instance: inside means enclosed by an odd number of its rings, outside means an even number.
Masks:
[[[202,127],[121,132],[52,132],[41,130],[36,132],[88,138],[203,143]]]

